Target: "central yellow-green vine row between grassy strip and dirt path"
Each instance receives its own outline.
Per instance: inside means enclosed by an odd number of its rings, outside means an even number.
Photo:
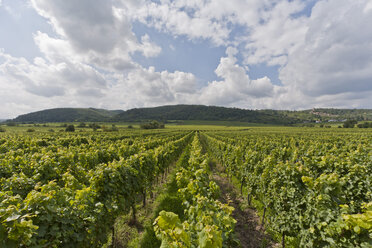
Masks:
[[[209,179],[207,155],[202,154],[198,135],[192,142],[190,158],[176,176],[179,196],[185,206],[185,220],[161,211],[154,222],[161,247],[232,247],[236,220],[233,207],[217,200],[218,185]]]

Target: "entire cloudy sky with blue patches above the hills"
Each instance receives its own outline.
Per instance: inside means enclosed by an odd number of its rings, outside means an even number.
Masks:
[[[0,0],[0,119],[372,108],[372,0]]]

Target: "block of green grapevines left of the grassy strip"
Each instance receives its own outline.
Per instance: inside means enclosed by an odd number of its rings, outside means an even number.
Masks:
[[[121,146],[105,146],[104,140],[83,143],[74,147],[78,152],[62,149],[68,151],[62,156],[56,145],[55,153],[41,150],[27,159],[16,155],[12,163],[23,161],[18,166],[7,162],[12,151],[7,152],[2,171],[10,166],[21,171],[1,179],[0,247],[102,246],[115,218],[134,209],[139,195],[151,189],[192,133],[176,136],[159,138],[153,149],[141,148],[127,157],[106,155],[110,159],[94,166],[83,161],[101,152],[99,145],[109,154],[120,154]]]

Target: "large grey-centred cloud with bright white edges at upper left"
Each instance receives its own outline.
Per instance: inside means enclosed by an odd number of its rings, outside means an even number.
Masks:
[[[55,59],[69,55],[105,70],[130,70],[136,65],[131,54],[139,51],[146,57],[157,56],[161,47],[148,35],[138,41],[132,32],[128,8],[131,1],[32,0],[38,13],[47,18],[59,37],[38,32],[36,43],[46,56]],[[89,11],[87,11],[87,8]]]

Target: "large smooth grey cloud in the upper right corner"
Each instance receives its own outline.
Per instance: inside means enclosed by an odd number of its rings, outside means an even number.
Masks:
[[[322,1],[308,31],[280,71],[284,85],[306,95],[372,91],[372,12],[366,1]]]

